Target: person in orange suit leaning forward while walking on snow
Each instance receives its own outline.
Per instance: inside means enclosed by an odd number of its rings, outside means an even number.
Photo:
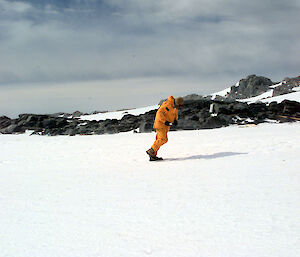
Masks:
[[[162,159],[157,157],[159,148],[168,142],[168,132],[172,125],[176,126],[178,121],[178,109],[184,104],[183,98],[174,98],[169,96],[168,100],[163,102],[156,112],[153,128],[156,130],[156,140],[152,147],[146,151],[150,160]]]

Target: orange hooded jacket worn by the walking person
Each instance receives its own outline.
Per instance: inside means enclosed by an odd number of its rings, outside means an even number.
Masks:
[[[174,108],[175,98],[173,96],[169,96],[168,100],[163,102],[163,104],[159,107],[154,121],[153,128],[168,128],[169,126],[165,125],[166,121],[173,122],[174,120],[178,120],[178,110]]]

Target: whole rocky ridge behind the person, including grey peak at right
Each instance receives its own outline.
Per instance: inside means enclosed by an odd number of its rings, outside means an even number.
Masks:
[[[273,89],[274,83],[265,77],[250,75],[239,81],[239,86],[232,86],[225,97],[217,96],[212,100],[211,96],[187,95],[184,97],[185,106],[180,110],[180,119],[177,127],[171,130],[196,130],[220,128],[231,124],[258,124],[266,120],[278,120],[280,122],[293,121],[292,116],[300,118],[300,103],[294,101],[247,104],[236,101],[260,95]],[[273,90],[273,96],[293,92],[300,86],[300,77],[285,78],[281,85]],[[163,100],[162,100],[163,101]],[[162,102],[161,101],[161,102]],[[98,112],[97,112],[98,113]],[[33,130],[39,135],[100,135],[113,134],[126,131],[150,132],[156,110],[134,116],[127,114],[121,120],[107,119],[105,121],[80,120],[83,113],[77,111],[73,114],[56,113],[52,115],[21,114],[18,119],[0,117],[0,133],[13,134],[24,133]]]

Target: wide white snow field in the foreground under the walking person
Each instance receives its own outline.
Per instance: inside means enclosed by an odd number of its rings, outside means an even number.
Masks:
[[[299,129],[0,135],[0,257],[298,257]]]

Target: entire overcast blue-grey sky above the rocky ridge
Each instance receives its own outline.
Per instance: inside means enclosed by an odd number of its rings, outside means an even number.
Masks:
[[[0,0],[0,116],[300,75],[299,0]]]

